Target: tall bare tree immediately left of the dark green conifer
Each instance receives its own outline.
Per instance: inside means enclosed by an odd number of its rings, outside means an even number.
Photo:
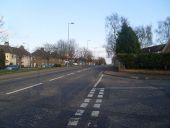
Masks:
[[[125,18],[120,17],[117,13],[113,13],[106,17],[106,51],[108,55],[113,55],[116,47],[116,40],[118,32],[121,29],[122,22],[127,21]]]

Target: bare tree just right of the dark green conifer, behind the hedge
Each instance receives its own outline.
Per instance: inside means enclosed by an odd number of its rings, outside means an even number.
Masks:
[[[146,27],[138,26],[135,28],[135,33],[138,37],[139,43],[142,48],[152,45],[152,26],[151,25],[148,25]]]

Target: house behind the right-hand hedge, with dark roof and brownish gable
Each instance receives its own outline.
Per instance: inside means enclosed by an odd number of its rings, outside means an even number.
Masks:
[[[166,44],[155,45],[142,49],[144,53],[168,53],[170,52],[170,39]]]

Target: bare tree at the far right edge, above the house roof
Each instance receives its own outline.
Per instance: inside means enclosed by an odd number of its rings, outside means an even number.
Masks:
[[[167,43],[170,39],[170,17],[167,17],[165,21],[158,22],[158,28],[156,29],[158,42]]]

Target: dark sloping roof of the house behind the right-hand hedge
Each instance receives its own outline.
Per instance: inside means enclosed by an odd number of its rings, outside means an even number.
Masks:
[[[155,45],[151,47],[146,47],[142,49],[142,52],[144,53],[160,53],[163,51],[164,47],[166,44],[160,44],[160,45]]]

